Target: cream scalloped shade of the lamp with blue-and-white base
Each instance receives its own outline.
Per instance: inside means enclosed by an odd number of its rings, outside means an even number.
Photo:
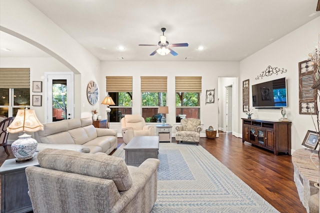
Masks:
[[[9,133],[17,133],[21,131],[34,132],[43,130],[43,125],[40,123],[32,109],[18,109],[12,123],[6,128]]]

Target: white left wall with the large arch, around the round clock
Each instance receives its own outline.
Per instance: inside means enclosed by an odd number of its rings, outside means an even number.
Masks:
[[[0,1],[0,30],[42,49],[69,70],[78,74],[74,77],[76,80],[74,85],[76,89],[75,116],[92,115],[92,107],[97,108],[98,103],[102,101],[101,98],[104,97],[101,95],[94,106],[91,106],[86,98],[87,83],[90,80],[97,81],[100,77],[100,61],[95,56],[27,0]],[[3,67],[2,58],[0,66]],[[32,72],[31,75],[33,76]],[[34,79],[31,77],[30,80]],[[103,87],[100,89],[104,90]]]

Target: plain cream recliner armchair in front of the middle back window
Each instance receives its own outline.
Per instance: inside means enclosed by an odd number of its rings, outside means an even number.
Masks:
[[[122,139],[127,144],[135,136],[152,136],[153,125],[146,125],[140,114],[126,114],[121,119]]]

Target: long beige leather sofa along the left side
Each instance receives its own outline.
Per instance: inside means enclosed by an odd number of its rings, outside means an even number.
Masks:
[[[117,130],[95,128],[90,117],[45,123],[43,128],[34,134],[38,142],[36,151],[58,148],[109,154],[117,146]]]

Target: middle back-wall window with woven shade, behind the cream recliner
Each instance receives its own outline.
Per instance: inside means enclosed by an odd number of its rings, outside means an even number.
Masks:
[[[141,76],[141,114],[146,122],[160,122],[158,106],[166,105],[166,84],[166,76]]]

